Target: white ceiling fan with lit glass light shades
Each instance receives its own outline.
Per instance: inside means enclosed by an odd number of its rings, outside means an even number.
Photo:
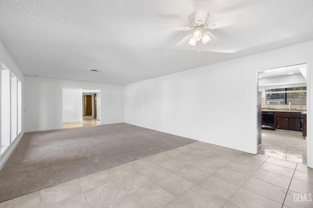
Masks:
[[[189,17],[190,27],[175,27],[169,26],[166,29],[169,30],[193,30],[192,34],[187,35],[185,38],[182,38],[176,46],[182,46],[188,41],[189,45],[196,46],[197,42],[201,40],[202,44],[208,43],[212,38],[218,39],[206,29],[214,30],[222,27],[227,27],[231,25],[240,24],[244,21],[245,16],[243,14],[229,17],[226,19],[220,19],[208,23],[209,19],[209,6],[210,2],[208,1],[197,1],[196,2],[196,13],[192,14]]]

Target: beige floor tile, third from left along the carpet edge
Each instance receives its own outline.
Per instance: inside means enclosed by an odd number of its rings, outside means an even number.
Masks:
[[[87,191],[110,182],[113,182],[113,179],[107,171],[100,171],[82,178],[78,178],[78,183],[83,191]]]

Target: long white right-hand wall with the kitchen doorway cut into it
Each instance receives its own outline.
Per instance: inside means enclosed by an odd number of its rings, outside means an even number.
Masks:
[[[308,62],[313,41],[124,86],[124,121],[256,153],[257,70]],[[313,87],[308,80],[311,151]],[[308,164],[313,167],[312,155]]]

